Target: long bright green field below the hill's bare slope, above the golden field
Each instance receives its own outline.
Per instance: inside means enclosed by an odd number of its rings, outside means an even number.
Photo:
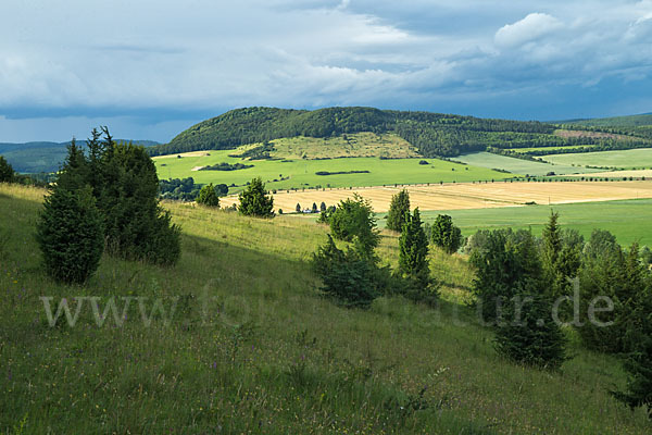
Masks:
[[[192,177],[196,183],[224,183],[242,186],[260,176],[269,189],[287,189],[304,186],[381,186],[392,184],[417,184],[439,182],[472,182],[479,179],[504,179],[512,174],[502,174],[486,167],[463,165],[437,159],[425,159],[429,164],[419,164],[423,159],[348,158],[329,160],[253,160],[231,158],[234,150],[209,151],[210,156],[176,154],[155,158],[160,178]],[[193,167],[220,162],[247,163],[253,167],[238,171],[192,171]],[[318,171],[369,171],[363,174],[315,175]],[[280,181],[281,177],[289,179]],[[277,179],[276,182],[274,179]],[[237,191],[238,189],[231,189]]]

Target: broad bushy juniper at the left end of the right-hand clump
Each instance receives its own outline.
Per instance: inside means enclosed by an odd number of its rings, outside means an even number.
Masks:
[[[516,296],[519,289],[541,294],[547,285],[537,241],[530,232],[496,229],[486,232],[480,240],[469,259],[476,268],[473,293],[479,314],[493,322],[501,303]]]

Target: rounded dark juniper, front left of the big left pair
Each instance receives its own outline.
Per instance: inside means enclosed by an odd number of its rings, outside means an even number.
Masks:
[[[36,239],[50,276],[63,283],[85,283],[104,250],[102,215],[90,186],[55,186],[43,203]]]

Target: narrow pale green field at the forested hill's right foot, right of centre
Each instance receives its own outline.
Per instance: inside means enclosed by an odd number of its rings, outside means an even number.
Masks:
[[[557,175],[595,172],[594,170],[589,170],[586,167],[574,167],[570,164],[551,164],[542,162],[532,162],[530,160],[499,156],[490,152],[474,152],[472,154],[456,157],[454,160],[474,166],[504,170],[513,174],[523,175],[529,174],[542,176],[548,174],[549,172],[554,172]]]

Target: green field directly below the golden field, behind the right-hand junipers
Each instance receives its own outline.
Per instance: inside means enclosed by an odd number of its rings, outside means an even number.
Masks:
[[[499,209],[424,211],[426,222],[432,222],[437,214],[450,214],[466,236],[478,229],[501,227],[528,228],[541,235],[550,216],[550,210],[560,213],[560,223],[579,231],[585,238],[593,228],[609,229],[623,245],[638,241],[652,247],[652,200],[637,199],[605,202],[581,202],[557,206],[527,206]]]

